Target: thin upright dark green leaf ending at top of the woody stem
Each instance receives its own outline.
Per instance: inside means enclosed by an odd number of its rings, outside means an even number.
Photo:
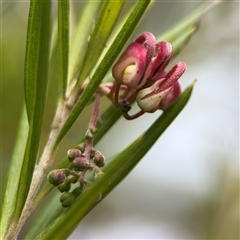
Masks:
[[[65,99],[68,77],[69,50],[69,0],[58,1],[58,57],[59,57],[59,92]]]

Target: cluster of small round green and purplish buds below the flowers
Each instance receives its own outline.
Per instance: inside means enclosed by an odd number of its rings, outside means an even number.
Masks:
[[[93,136],[97,131],[97,128],[89,125],[86,141],[77,148],[68,150],[67,158],[72,163],[71,169],[55,169],[48,174],[49,182],[63,193],[60,197],[63,207],[73,204],[77,197],[92,185],[86,180],[86,172],[91,172],[94,179],[103,175],[101,168],[105,165],[105,157],[92,147]]]

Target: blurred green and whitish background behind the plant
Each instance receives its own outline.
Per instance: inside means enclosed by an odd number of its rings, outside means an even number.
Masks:
[[[157,1],[132,38],[143,31],[158,36],[199,4]],[[24,101],[28,7],[20,1],[1,4],[1,193]],[[73,19],[80,8],[72,2]],[[239,3],[227,2],[208,13],[172,64],[177,61],[188,66],[183,87],[198,79],[190,103],[69,239],[239,239]],[[56,70],[50,77],[42,146],[56,106]],[[103,99],[102,111],[109,104]],[[91,108],[69,132],[57,159],[84,134]],[[120,151],[159,113],[133,122],[121,119],[97,148],[106,157]]]

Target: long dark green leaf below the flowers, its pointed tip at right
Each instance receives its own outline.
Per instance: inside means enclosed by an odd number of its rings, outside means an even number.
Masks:
[[[146,133],[135,140],[134,143],[117,155],[117,157],[113,158],[104,169],[104,175],[86,193],[79,197],[72,206],[53,221],[37,239],[67,238],[76,228],[79,221],[98,204],[95,199],[97,199],[99,193],[102,193],[103,199],[130,173],[147,153],[159,136],[182,111],[191,96],[192,89],[193,84],[184,91],[173,106],[155,121]]]

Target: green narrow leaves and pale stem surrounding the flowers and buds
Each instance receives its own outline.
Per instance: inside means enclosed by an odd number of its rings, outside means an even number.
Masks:
[[[24,68],[25,106],[1,209],[3,238],[15,239],[28,216],[53,189],[54,186],[49,183],[41,185],[51,170],[60,142],[90,104],[95,93],[101,92],[101,87],[112,83],[113,79],[109,77],[111,66],[144,16],[150,1],[138,1],[128,14],[122,16],[124,3],[125,1],[99,1],[94,4],[86,2],[74,39],[71,39],[68,0],[58,2],[58,18],[53,24],[57,22],[58,25],[57,38],[51,28],[51,2],[31,1]],[[215,5],[216,3],[211,6]],[[172,43],[173,58],[186,46],[196,32],[203,13],[210,8],[209,5],[201,6],[168,32],[157,37],[158,40],[165,39]],[[93,24],[94,19],[96,21]],[[48,142],[41,154],[39,149],[48,94],[48,72],[55,60],[55,49],[58,51],[59,95]],[[142,136],[116,156],[107,159],[102,170],[91,165],[95,178],[87,177],[91,184],[80,196],[77,195],[75,202],[67,210],[61,207],[58,195],[52,196],[25,239],[67,238],[81,219],[131,172],[178,116],[187,104],[193,86],[191,84]],[[95,134],[89,125],[88,134],[94,137],[83,136],[76,146],[85,139],[91,146],[95,145],[121,115],[121,111],[113,105],[102,114],[101,122],[96,121],[96,114],[90,123],[94,123],[98,132]],[[58,168],[71,169],[72,165],[68,158],[63,157]]]

